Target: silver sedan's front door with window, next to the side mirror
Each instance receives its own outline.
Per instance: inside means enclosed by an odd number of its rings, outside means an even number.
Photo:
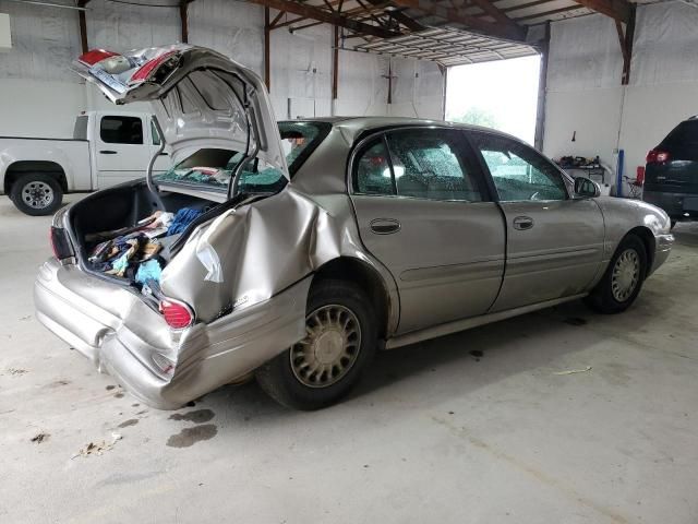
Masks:
[[[468,135],[506,218],[506,271],[492,311],[588,290],[603,257],[598,204],[573,199],[559,169],[528,145],[486,132]]]

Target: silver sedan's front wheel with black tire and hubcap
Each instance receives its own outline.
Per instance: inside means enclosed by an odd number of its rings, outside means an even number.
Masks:
[[[630,234],[621,241],[603,278],[585,298],[585,301],[587,306],[600,313],[621,313],[633,305],[642,288],[646,276],[645,243],[639,237]]]

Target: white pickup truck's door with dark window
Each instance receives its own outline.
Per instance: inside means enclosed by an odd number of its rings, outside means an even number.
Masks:
[[[97,189],[105,189],[145,176],[152,145],[145,118],[133,115],[101,115],[95,133]]]

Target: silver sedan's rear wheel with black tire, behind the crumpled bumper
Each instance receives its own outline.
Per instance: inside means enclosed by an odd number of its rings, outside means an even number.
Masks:
[[[336,279],[314,284],[306,309],[309,334],[257,369],[262,389],[279,404],[303,410],[320,409],[346,396],[375,356],[377,325],[373,309],[365,293],[354,284]],[[347,327],[333,329],[339,324]],[[327,362],[321,365],[318,355]],[[316,367],[324,371],[311,372]]]

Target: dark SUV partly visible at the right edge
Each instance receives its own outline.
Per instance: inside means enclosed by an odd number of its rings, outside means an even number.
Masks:
[[[698,116],[647,154],[642,200],[664,210],[672,226],[698,219]]]

